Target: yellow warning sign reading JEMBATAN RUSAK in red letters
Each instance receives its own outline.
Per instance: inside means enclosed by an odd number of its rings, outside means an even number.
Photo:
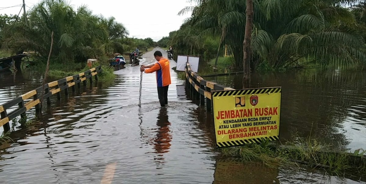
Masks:
[[[217,147],[278,140],[281,87],[212,91]]]

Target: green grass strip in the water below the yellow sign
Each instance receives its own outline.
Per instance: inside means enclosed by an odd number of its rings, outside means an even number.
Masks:
[[[366,176],[366,159],[362,162],[350,162],[350,156],[360,157],[365,153],[363,149],[354,153],[332,150],[332,145],[317,139],[297,139],[286,145],[275,146],[268,139],[259,144],[249,144],[238,147],[221,149],[225,157],[241,158],[244,162],[261,161],[269,167],[296,166],[305,164],[317,168],[324,168],[330,173],[342,175],[346,172]]]

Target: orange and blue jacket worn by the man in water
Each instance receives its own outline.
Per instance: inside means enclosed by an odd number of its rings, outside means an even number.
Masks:
[[[158,87],[164,87],[171,84],[169,60],[162,58],[151,68],[146,68],[145,73],[156,72],[156,84]]]

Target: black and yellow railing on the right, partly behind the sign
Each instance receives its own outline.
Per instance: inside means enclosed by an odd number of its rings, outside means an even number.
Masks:
[[[204,80],[202,77],[198,76],[197,73],[191,70],[191,66],[186,62],[186,89],[188,89],[188,95],[193,97],[193,99],[200,100],[200,105],[205,106],[208,112],[211,112],[212,102],[211,102],[211,91],[216,90],[235,90],[233,88],[225,87],[223,85]],[[206,103],[205,103],[206,101]]]

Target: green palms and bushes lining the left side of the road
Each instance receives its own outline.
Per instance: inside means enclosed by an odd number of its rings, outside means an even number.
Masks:
[[[114,53],[130,53],[156,45],[151,38],[129,38],[129,32],[114,17],[94,15],[86,6],[72,8],[66,0],[43,0],[24,17],[0,15],[0,57],[29,53],[33,65],[29,70],[45,72],[54,32],[49,76],[62,78],[86,71],[88,58],[98,59],[103,66],[101,80],[114,79],[107,69]],[[126,58],[128,59],[128,57]]]

